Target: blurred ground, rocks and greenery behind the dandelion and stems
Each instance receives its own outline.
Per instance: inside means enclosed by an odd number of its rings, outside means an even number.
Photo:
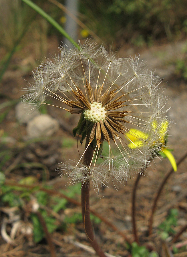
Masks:
[[[164,94],[170,99],[168,107],[172,107],[168,115],[174,123],[170,128],[168,146],[178,160],[187,148],[187,1],[33,0],[33,3],[50,15],[75,42],[80,39],[83,43],[91,38],[105,47],[112,45],[119,57],[140,54],[140,59],[156,70],[162,80],[160,86],[166,87]],[[79,117],[51,106],[42,108],[41,113],[30,111],[32,108],[24,107],[20,101],[25,94],[23,88],[33,81],[32,70],[45,62],[46,57],[50,59],[64,44],[71,47],[62,33],[25,1],[0,0],[2,257],[94,256],[86,247],[89,244],[80,206],[53,192],[58,190],[80,202],[81,185],[68,187],[68,178],[59,178],[56,171],[59,163],[79,157],[77,138],[72,135]],[[38,119],[42,126],[38,126]],[[82,151],[83,146],[79,150]],[[154,234],[149,241],[151,246],[144,246],[147,249],[144,255],[141,255],[141,249],[134,250],[139,254],[135,255],[118,232],[92,216],[95,233],[104,251],[124,257],[187,256],[186,231],[179,239],[182,246],[174,245],[175,251],[171,248],[173,255],[164,253],[162,243],[162,234],[165,233],[164,239],[169,242],[170,236],[186,225],[186,165],[184,160],[164,188],[155,216]],[[152,197],[169,169],[167,159],[155,158],[138,186],[137,227],[143,244]],[[101,199],[91,189],[91,208],[130,236],[131,194],[135,178],[136,174],[126,186],[119,184],[118,190],[112,183],[109,188],[102,188]],[[51,193],[41,190],[40,186]],[[52,235],[55,253],[51,253],[40,214]],[[168,225],[172,230],[163,225],[168,217],[173,219]]]

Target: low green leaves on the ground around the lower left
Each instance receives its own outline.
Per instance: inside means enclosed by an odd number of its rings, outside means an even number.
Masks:
[[[51,206],[53,212],[58,213],[60,210],[65,210],[68,204],[68,201],[65,198],[60,198],[57,196],[50,197],[47,194],[47,192],[44,192],[41,190],[38,191],[37,187],[36,189],[28,190],[27,188],[22,188],[19,186],[7,186],[7,185],[4,185],[4,182],[5,182],[5,176],[3,173],[0,172],[1,202],[8,204],[10,207],[17,206],[19,208],[22,208],[27,202],[31,200],[31,194],[32,194],[37,198],[37,202],[41,206],[41,208],[39,208],[38,211],[43,216],[43,219],[45,220],[49,233],[54,232],[58,228],[58,225],[56,224],[56,219],[52,216],[52,214],[49,214],[46,210],[43,210],[42,207]],[[23,184],[33,185],[35,182],[36,180],[32,176],[28,176],[19,181],[21,185]],[[45,186],[45,188],[49,188],[49,187]],[[17,193],[17,191],[19,191],[19,193]],[[74,186],[70,186],[68,190],[63,191],[63,194],[65,194],[70,198],[73,198],[77,194],[80,194],[80,192],[81,192],[81,184],[77,183]],[[37,214],[35,213],[31,213],[30,218],[33,223],[33,238],[35,242],[40,242],[45,236],[40,220]],[[78,223],[78,222],[81,222],[81,220],[82,220],[81,214],[75,213],[71,217],[66,216],[62,225],[64,227],[67,227],[69,223]],[[93,215],[91,215],[91,220],[93,220],[95,223],[100,222],[100,220]]]

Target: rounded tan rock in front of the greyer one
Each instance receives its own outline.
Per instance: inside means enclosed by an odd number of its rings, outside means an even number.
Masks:
[[[47,114],[41,114],[27,124],[27,135],[29,138],[40,136],[51,136],[59,129],[57,120]]]

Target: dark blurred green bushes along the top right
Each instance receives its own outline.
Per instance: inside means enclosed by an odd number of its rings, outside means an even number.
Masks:
[[[80,1],[84,22],[98,36],[108,41],[123,37],[138,46],[186,33],[186,8],[185,0]]]

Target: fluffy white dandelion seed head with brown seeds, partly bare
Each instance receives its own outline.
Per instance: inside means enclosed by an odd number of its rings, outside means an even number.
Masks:
[[[78,49],[61,47],[52,60],[36,69],[33,79],[26,101],[47,104],[51,97],[59,101],[56,107],[80,115],[73,134],[81,135],[81,143],[86,137],[87,146],[79,160],[62,164],[73,183],[92,181],[97,190],[111,179],[124,184],[162,147],[166,98],[158,77],[139,55],[118,58],[87,40],[83,45],[79,42]],[[107,154],[102,151],[104,143]],[[85,165],[83,158],[90,147],[93,154]]]

